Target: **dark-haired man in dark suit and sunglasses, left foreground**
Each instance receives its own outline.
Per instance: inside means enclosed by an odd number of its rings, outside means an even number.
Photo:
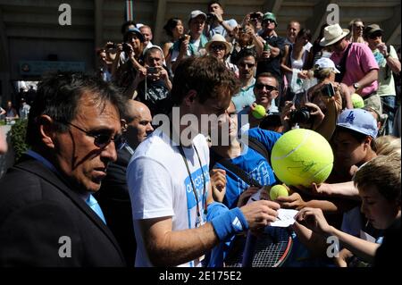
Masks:
[[[124,266],[92,196],[116,160],[124,99],[80,74],[44,79],[29,151],[0,181],[1,266]]]

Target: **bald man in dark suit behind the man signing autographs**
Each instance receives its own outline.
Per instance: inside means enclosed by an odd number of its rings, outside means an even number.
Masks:
[[[117,161],[110,163],[96,199],[102,206],[105,219],[113,231],[129,266],[134,266],[136,238],[132,223],[131,202],[126,182],[126,168],[138,145],[147,138],[152,128],[152,116],[147,105],[129,100],[126,114],[127,144],[117,151]]]

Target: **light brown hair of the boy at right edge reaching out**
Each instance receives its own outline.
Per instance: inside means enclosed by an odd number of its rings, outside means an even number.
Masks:
[[[400,154],[373,158],[356,172],[353,181],[358,189],[375,186],[381,196],[400,205]]]

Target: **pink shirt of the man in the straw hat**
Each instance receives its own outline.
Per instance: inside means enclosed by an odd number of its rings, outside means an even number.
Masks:
[[[344,52],[341,54],[333,53],[331,55],[331,60],[335,64],[339,64],[343,54]],[[346,73],[343,77],[342,83],[351,86],[353,83],[364,78],[365,74],[369,71],[378,69],[378,64],[375,61],[370,47],[360,43],[353,43],[352,46],[350,46],[348,53]],[[358,90],[357,93],[364,97],[375,92],[377,88],[378,82],[375,80],[371,85]]]

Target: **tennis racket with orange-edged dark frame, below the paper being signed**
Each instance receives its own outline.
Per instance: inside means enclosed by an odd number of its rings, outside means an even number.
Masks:
[[[268,226],[259,237],[249,232],[242,267],[280,267],[289,256],[292,246],[293,239],[289,227]]]

